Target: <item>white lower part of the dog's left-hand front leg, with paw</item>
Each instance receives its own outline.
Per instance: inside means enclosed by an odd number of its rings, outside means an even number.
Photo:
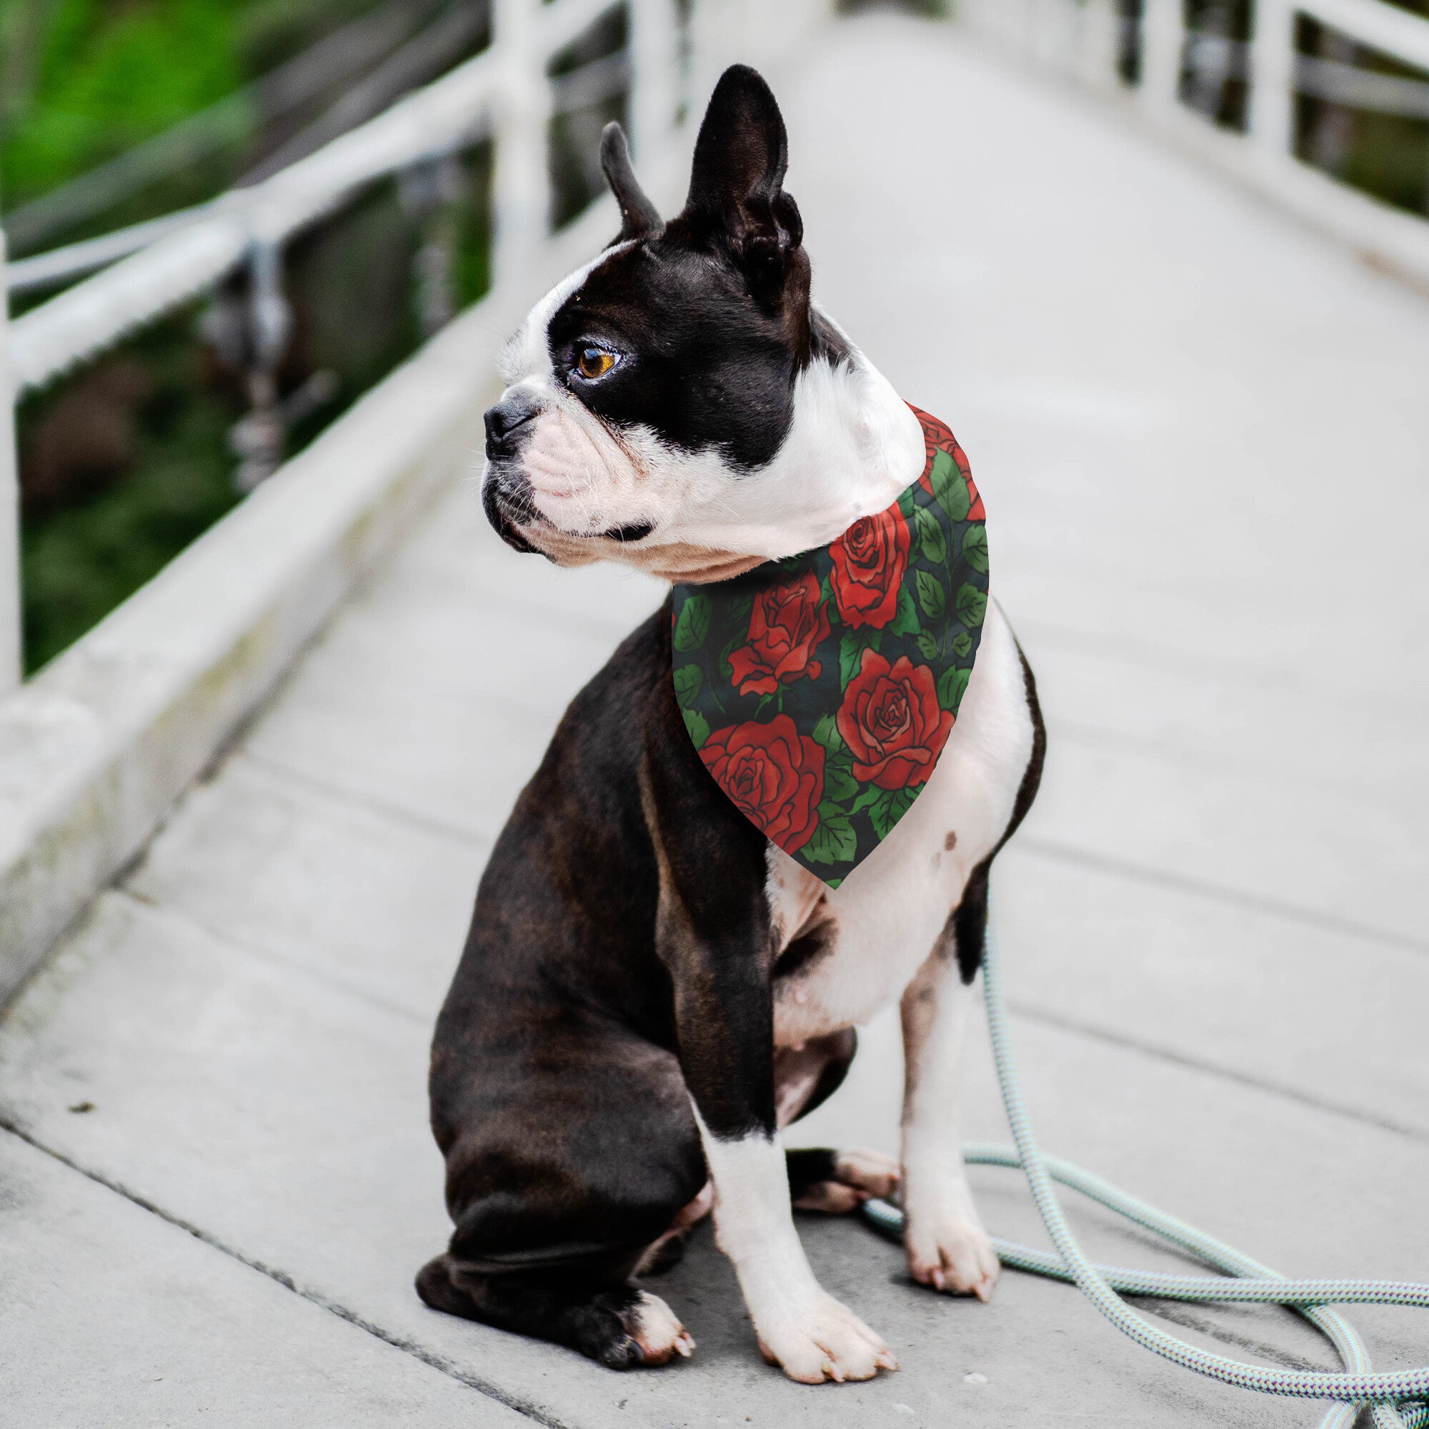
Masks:
[[[805,1385],[897,1369],[883,1340],[825,1292],[809,1269],[789,1208],[779,1137],[720,1140],[697,1109],[694,1115],[714,1182],[714,1236],[735,1265],[765,1358]]]

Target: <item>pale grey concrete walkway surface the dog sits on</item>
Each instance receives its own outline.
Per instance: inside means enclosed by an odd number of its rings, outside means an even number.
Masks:
[[[843,23],[773,79],[816,292],[967,447],[1040,679],[1000,922],[1045,1145],[1283,1272],[1429,1279],[1429,306],[946,27]],[[31,979],[0,1025],[0,1420],[1316,1422],[1065,1288],[915,1289],[852,1222],[803,1229],[902,1359],[869,1385],[767,1369],[707,1232],[662,1282],[699,1342],[667,1370],[417,1302],[426,1045],[482,860],[659,596],[509,553],[454,490]],[[897,1079],[885,1016],[800,1137],[893,1149]],[[980,1043],[969,1079],[1003,1139]],[[977,1182],[1035,1235],[1016,1177]],[[1160,1313],[1329,1365],[1278,1312]],[[1429,1360],[1422,1316],[1355,1319]]]

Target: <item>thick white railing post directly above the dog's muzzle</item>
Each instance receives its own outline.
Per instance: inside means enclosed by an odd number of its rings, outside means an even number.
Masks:
[[[550,81],[536,53],[537,0],[494,0],[492,49],[503,87],[496,103],[496,171],[492,179],[493,286],[524,286],[534,250],[546,236],[550,184],[546,124]]]

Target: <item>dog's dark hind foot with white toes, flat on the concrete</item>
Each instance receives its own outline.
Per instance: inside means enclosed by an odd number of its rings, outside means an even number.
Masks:
[[[664,1300],[623,1276],[586,1279],[567,1269],[493,1275],[447,1253],[417,1273],[417,1295],[434,1310],[553,1340],[610,1369],[664,1365],[694,1349]]]

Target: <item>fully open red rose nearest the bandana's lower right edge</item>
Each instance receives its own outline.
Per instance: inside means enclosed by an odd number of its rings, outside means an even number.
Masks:
[[[853,755],[853,777],[879,789],[926,782],[947,743],[953,716],[940,709],[933,672],[906,654],[893,666],[863,652],[839,709],[839,733]]]

